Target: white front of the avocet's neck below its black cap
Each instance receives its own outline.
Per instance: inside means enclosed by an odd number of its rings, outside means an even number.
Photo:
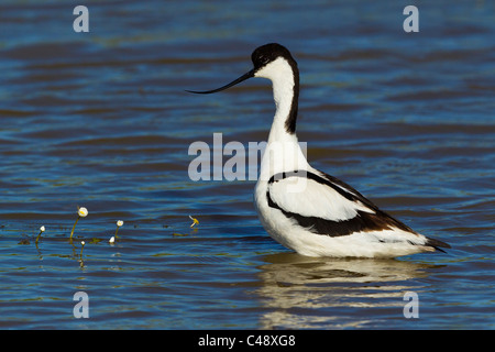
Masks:
[[[286,59],[279,57],[255,74],[273,82],[276,112],[261,164],[261,179],[282,172],[307,169],[308,162],[299,147],[296,133],[289,133],[286,121],[294,98],[294,74]]]

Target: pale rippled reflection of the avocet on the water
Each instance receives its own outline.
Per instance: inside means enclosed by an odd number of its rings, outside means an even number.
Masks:
[[[435,265],[402,260],[308,257],[279,253],[264,257],[255,290],[266,312],[262,329],[374,327],[404,319],[404,294],[420,293],[415,278]]]

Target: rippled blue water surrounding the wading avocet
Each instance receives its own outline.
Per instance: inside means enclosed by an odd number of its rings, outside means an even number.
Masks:
[[[1,328],[494,329],[492,2],[421,2],[418,33],[407,1],[85,4],[89,33],[65,1],[0,4]],[[253,180],[189,179],[191,143],[248,148],[274,105],[261,79],[184,90],[270,42],[298,62],[310,163],[447,254],[300,256],[261,227]]]

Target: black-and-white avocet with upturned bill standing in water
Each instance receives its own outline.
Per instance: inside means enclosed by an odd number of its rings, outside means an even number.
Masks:
[[[296,136],[296,61],[276,43],[256,48],[252,61],[254,68],[229,85],[191,92],[221,91],[251,77],[272,80],[276,112],[254,198],[273,239],[309,256],[396,257],[450,248],[415,232],[348,184],[311,167]]]

